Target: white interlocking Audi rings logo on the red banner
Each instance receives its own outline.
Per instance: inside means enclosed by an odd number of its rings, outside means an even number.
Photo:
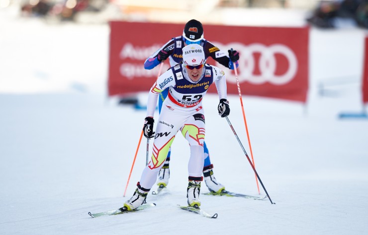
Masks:
[[[220,44],[215,43],[215,45]],[[252,84],[270,82],[274,85],[283,85],[290,82],[298,70],[298,61],[294,52],[282,44],[265,46],[260,43],[254,43],[245,46],[234,43],[222,45],[221,48],[233,48],[239,52],[239,81],[248,81]],[[260,55],[258,57],[258,63],[254,56],[257,53]],[[283,71],[282,74],[276,74],[277,54],[283,56],[288,63],[286,71]],[[259,74],[254,74],[257,65]]]

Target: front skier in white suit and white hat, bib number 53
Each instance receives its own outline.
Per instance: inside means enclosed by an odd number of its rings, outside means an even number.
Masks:
[[[147,104],[147,117],[143,127],[146,138],[154,137],[152,158],[144,168],[133,196],[124,203],[127,210],[134,210],[142,205],[157,175],[163,167],[175,135],[180,130],[190,146],[188,163],[187,202],[189,206],[200,206],[199,191],[203,180],[204,163],[204,111],[202,98],[208,87],[215,82],[220,103],[218,113],[221,117],[230,114],[227,101],[226,79],[224,72],[213,65],[205,64],[203,48],[190,44],[183,48],[183,63],[171,67],[153,84]],[[159,94],[169,89],[156,127],[153,132],[154,112]]]

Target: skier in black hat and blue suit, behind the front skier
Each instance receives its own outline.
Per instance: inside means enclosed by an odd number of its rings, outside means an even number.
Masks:
[[[203,38],[202,24],[194,19],[189,20],[185,24],[183,36],[178,36],[176,38],[171,39],[163,47],[157,50],[152,56],[146,59],[146,61],[144,62],[144,67],[146,69],[152,69],[167,58],[169,58],[170,65],[175,66],[176,64],[183,61],[183,52],[182,52],[183,47],[190,44],[198,44],[202,46],[204,49],[205,59],[207,59],[208,57],[212,57],[217,62],[221,63],[222,65],[230,69],[234,69],[234,62],[235,62],[236,67],[238,67],[239,53],[237,51],[231,52],[230,50],[228,50],[229,57],[227,57],[224,52],[220,51],[220,49],[218,49],[212,43],[208,42]],[[167,96],[168,96],[168,89],[165,89],[160,93],[159,112],[161,112],[162,104]],[[213,176],[212,171],[213,165],[211,164],[209,152],[205,142],[203,144],[203,148],[204,148],[204,164],[203,164],[204,181],[211,192],[221,192],[225,190],[225,186],[219,183]],[[166,187],[169,183],[170,153],[171,149],[169,149],[166,162],[159,172],[157,185],[159,185],[159,187],[161,188]]]

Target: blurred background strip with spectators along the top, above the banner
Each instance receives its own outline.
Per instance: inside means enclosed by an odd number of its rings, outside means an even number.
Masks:
[[[0,0],[0,8],[11,8],[19,17],[43,18],[48,23],[183,22],[188,14],[199,13],[198,20],[212,24],[295,24],[290,17],[298,15],[321,28],[339,27],[340,21],[368,27],[367,0]],[[242,17],[232,20],[232,14]]]

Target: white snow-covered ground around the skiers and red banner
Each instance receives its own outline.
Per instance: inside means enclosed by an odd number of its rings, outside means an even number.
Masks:
[[[145,111],[106,97],[108,27],[4,13],[0,32],[1,235],[368,234],[368,120],[338,118],[363,109],[364,31],[311,29],[306,106],[243,96],[256,168],[276,204],[202,195],[202,209],[217,219],[176,206],[186,203],[189,157],[180,135],[167,193],[147,198],[156,207],[92,219],[89,211],[122,206],[146,160],[143,139],[123,197]],[[239,96],[229,100],[229,119],[250,156]],[[230,191],[257,195],[217,102],[216,95],[203,101],[215,176]]]

